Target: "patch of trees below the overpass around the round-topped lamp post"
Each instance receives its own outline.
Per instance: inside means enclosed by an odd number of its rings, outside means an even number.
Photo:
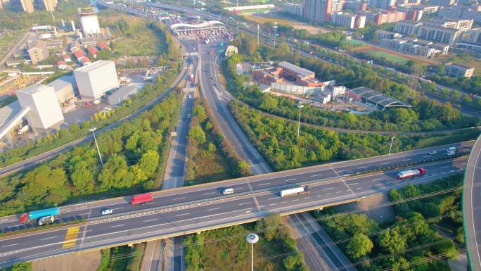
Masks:
[[[278,215],[269,215],[256,223],[214,229],[201,234],[191,234],[184,239],[186,270],[217,270],[226,265],[232,271],[246,270],[250,266],[250,246],[245,236],[258,231],[255,244],[255,270],[306,271],[302,254],[296,241],[283,227]],[[218,240],[222,241],[218,241]],[[278,255],[288,254],[284,257]],[[276,257],[277,256],[277,257]]]

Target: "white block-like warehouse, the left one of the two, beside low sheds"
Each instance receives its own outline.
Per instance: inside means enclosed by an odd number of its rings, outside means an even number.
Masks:
[[[25,118],[34,129],[58,129],[56,125],[63,122],[63,113],[58,105],[53,87],[44,84],[32,84],[20,89],[17,92],[17,97],[22,108],[30,108]]]

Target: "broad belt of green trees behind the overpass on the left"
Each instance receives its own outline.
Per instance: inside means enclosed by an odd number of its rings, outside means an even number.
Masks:
[[[104,164],[92,142],[60,154],[33,170],[0,179],[0,215],[58,206],[75,198],[129,194],[162,182],[168,134],[177,123],[179,92],[139,117],[97,135]]]

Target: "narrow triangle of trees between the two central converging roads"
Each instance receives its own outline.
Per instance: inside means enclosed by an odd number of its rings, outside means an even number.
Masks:
[[[212,121],[211,114],[210,110],[205,110],[203,101],[195,100],[188,132],[186,164],[188,184],[250,175],[248,163],[238,157],[220,131],[217,122]]]

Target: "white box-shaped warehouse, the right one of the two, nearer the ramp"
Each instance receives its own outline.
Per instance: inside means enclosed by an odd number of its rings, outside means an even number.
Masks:
[[[96,61],[74,70],[81,99],[96,100],[120,86],[113,61]]]

